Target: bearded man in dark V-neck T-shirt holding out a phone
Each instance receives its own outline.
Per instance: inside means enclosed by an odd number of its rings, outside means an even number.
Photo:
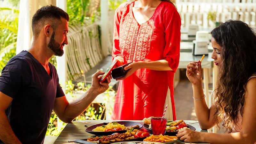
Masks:
[[[92,75],[92,86],[84,96],[67,101],[49,59],[63,55],[63,46],[68,44],[68,20],[68,14],[56,6],[39,9],[32,18],[31,48],[14,56],[4,67],[0,76],[2,142],[43,143],[52,109],[68,123],[108,89],[111,76],[106,83],[99,83],[104,73],[98,71]]]

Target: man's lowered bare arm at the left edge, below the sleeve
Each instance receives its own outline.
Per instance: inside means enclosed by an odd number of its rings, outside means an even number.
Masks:
[[[5,144],[21,144],[20,140],[12,131],[11,125],[5,114],[5,110],[10,106],[12,98],[0,92],[0,139]]]

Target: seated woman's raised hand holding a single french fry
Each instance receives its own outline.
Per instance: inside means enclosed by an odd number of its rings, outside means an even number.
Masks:
[[[199,60],[189,62],[187,65],[187,77],[192,84],[202,83],[203,69]]]

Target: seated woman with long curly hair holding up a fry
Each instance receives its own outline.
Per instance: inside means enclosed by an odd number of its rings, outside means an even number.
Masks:
[[[218,66],[214,102],[204,100],[201,62],[189,62],[187,77],[192,83],[196,116],[201,129],[215,124],[225,133],[183,129],[177,137],[185,142],[253,144],[256,142],[256,36],[247,24],[229,20],[211,32],[212,59]],[[197,68],[198,67],[198,68]]]

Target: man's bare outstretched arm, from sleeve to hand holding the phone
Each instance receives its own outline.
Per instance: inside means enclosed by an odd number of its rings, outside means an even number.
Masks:
[[[80,115],[92,103],[92,101],[102,92],[108,89],[111,76],[107,77],[107,83],[99,83],[104,72],[96,72],[92,75],[92,85],[79,99],[68,102],[65,96],[56,98],[53,105],[53,111],[65,123],[72,121]],[[101,76],[100,76],[101,75]]]

